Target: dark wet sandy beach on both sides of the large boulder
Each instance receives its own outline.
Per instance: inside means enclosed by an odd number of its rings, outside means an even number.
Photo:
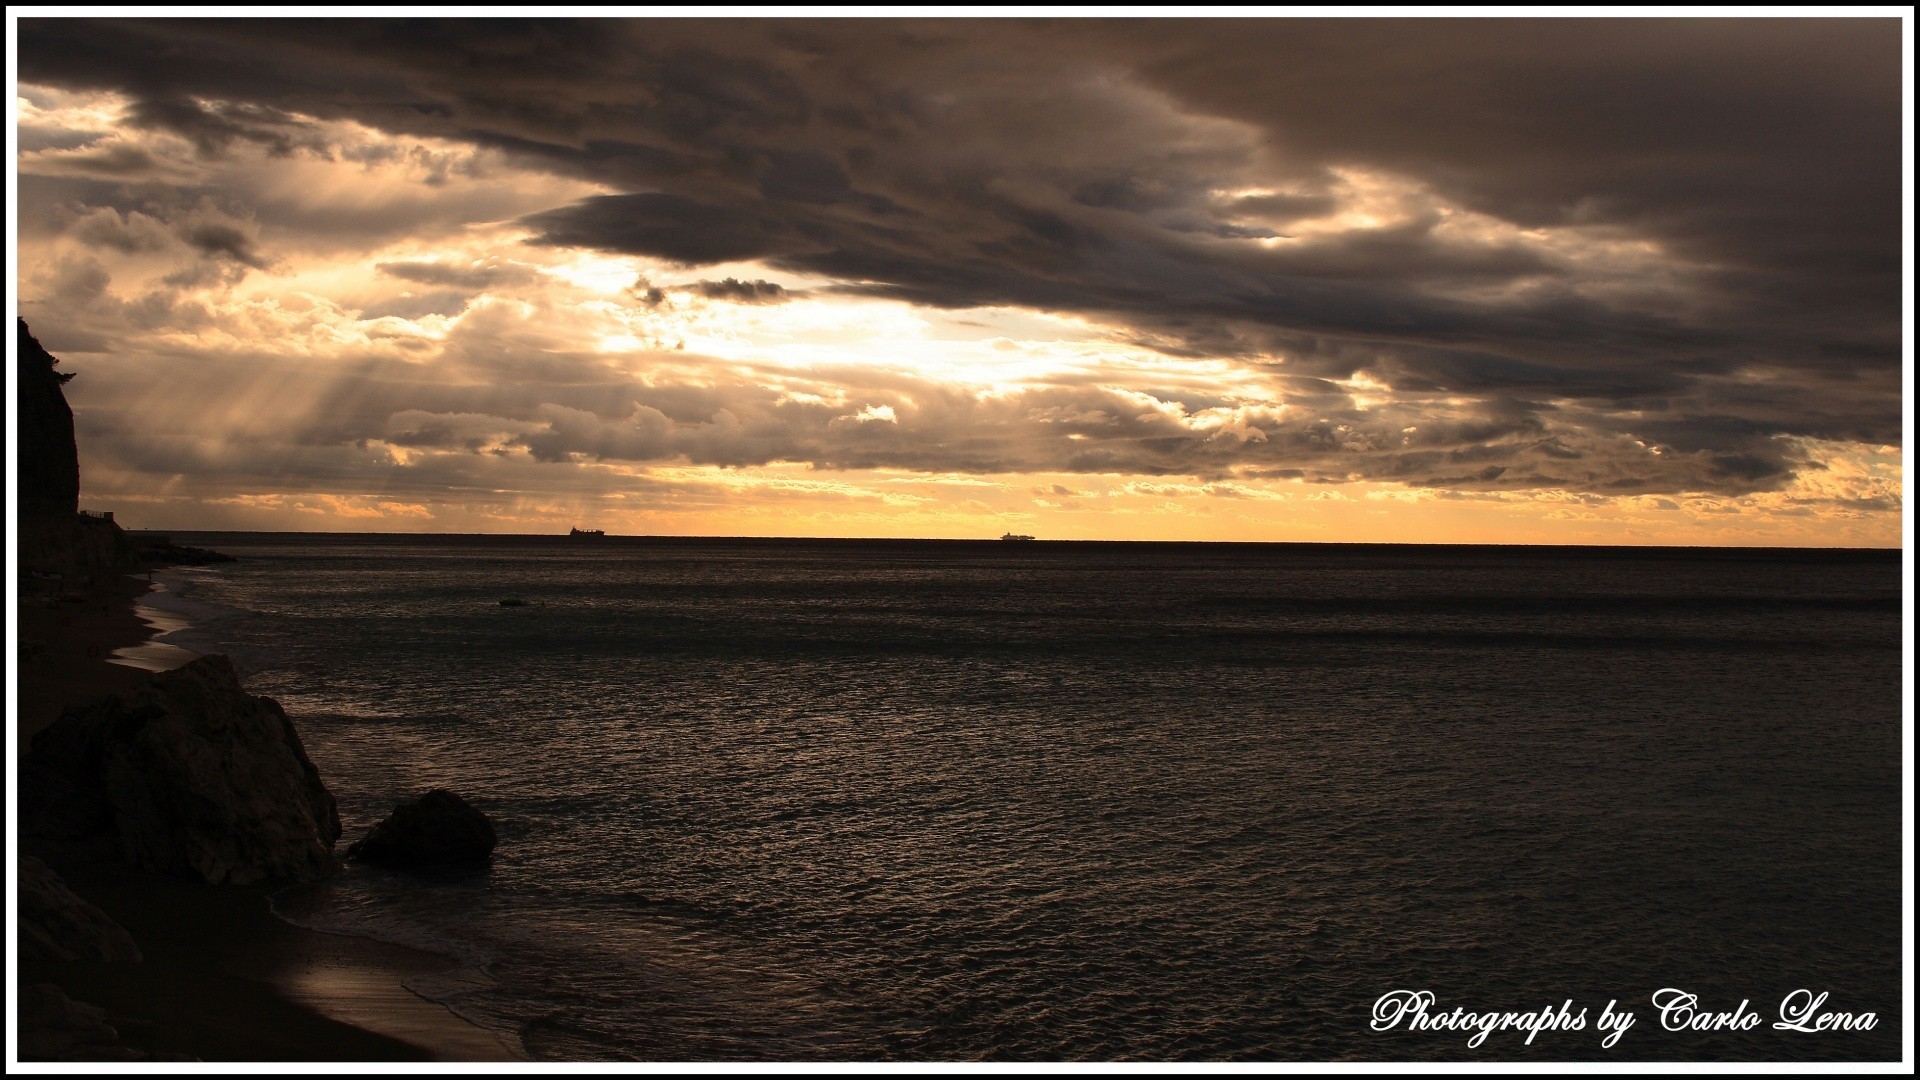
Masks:
[[[60,713],[132,690],[198,653],[154,642],[182,623],[142,605],[123,571],[19,600],[19,753]],[[29,851],[15,851],[15,859]],[[125,865],[48,859],[132,934],[144,961],[21,961],[19,988],[54,982],[100,1005],[119,1045],[200,1061],[526,1061],[507,1040],[417,995],[407,978],[453,957],[296,926],[269,886],[205,886]]]

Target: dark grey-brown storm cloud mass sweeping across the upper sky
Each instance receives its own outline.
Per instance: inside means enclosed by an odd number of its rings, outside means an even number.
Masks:
[[[1807,467],[1780,436],[1901,438],[1899,48],[1897,19],[23,19],[19,71],[209,156],[326,152],[300,117],[490,146],[620,192],[524,217],[540,244],[1083,313],[1267,365],[1311,417],[1052,446],[902,404],[764,452],[1753,490]],[[1390,221],[1356,175],[1411,184]],[[1313,388],[1356,375],[1377,415]],[[543,423],[549,457],[726,444]]]

